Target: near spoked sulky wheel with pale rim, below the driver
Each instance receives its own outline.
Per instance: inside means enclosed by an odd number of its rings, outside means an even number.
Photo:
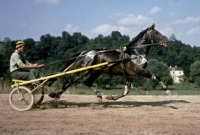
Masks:
[[[11,91],[9,102],[14,110],[27,111],[33,106],[34,97],[29,88],[19,86]]]

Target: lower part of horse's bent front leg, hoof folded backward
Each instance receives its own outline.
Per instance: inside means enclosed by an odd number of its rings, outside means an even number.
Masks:
[[[117,95],[117,96],[108,95],[108,96],[106,97],[106,99],[107,99],[107,100],[118,100],[119,98],[125,97],[125,96],[129,93],[132,80],[133,80],[133,79],[127,79],[126,84],[125,84],[125,86],[124,86],[124,92],[123,92],[122,94]]]

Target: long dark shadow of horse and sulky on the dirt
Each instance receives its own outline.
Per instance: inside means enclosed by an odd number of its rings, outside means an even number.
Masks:
[[[40,106],[41,109],[52,109],[52,108],[77,108],[77,107],[93,107],[93,108],[132,108],[140,106],[164,106],[171,103],[190,103],[185,100],[168,100],[168,101],[156,101],[156,102],[137,102],[137,101],[109,101],[102,103],[88,103],[88,102],[66,102],[65,100],[50,100],[43,102]],[[174,106],[169,106],[172,109],[178,109]]]

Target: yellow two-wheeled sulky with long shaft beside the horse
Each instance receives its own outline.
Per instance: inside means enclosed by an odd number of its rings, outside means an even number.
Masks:
[[[107,65],[108,62],[104,62],[104,63],[100,63],[100,64],[96,64],[96,65],[92,65],[92,66],[88,66],[88,67],[83,67],[83,68],[79,68],[79,69],[74,69],[71,71],[66,71],[66,72],[62,72],[62,73],[57,73],[54,75],[49,75],[46,77],[42,77],[39,79],[34,79],[34,80],[17,80],[17,79],[12,79],[13,84],[11,85],[11,87],[13,88],[10,95],[9,95],[9,102],[10,105],[12,106],[12,108],[14,110],[17,111],[27,111],[29,109],[31,109],[33,107],[33,105],[37,105],[37,103],[41,103],[44,95],[42,95],[40,97],[40,99],[38,99],[36,96],[38,96],[39,94],[37,93],[39,90],[41,90],[42,93],[44,93],[44,89],[43,86],[44,84],[52,78],[57,78],[60,76],[64,76],[67,74],[73,74],[76,72],[81,72],[84,70],[88,70],[88,69],[95,69],[104,65]],[[38,86],[36,86],[35,88],[31,89],[29,87],[27,87],[27,85],[35,82],[35,81],[41,81],[42,83]]]

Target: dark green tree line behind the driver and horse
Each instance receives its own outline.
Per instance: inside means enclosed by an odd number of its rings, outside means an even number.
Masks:
[[[134,38],[134,37],[133,37]],[[72,35],[68,32],[62,32],[62,36],[52,36],[50,34],[42,35],[39,41],[34,41],[32,38],[24,39],[26,44],[25,57],[30,62],[44,63],[46,66],[42,69],[44,74],[61,71],[64,63],[67,62],[74,54],[88,49],[119,49],[125,46],[132,39],[128,35],[122,35],[118,31],[113,31],[108,36],[99,34],[97,37],[89,39],[87,36],[82,35],[80,32],[75,32]],[[184,70],[185,77],[190,82],[195,82],[195,73],[191,73],[193,68],[192,64],[200,61],[200,47],[184,44],[177,40],[175,35],[172,34],[169,38],[170,44],[167,47],[152,46],[148,55],[149,64],[147,67],[149,71],[155,72],[154,74],[162,75],[165,83],[171,84],[172,79],[164,75],[169,73],[169,66],[178,66]],[[4,38],[0,42],[0,77],[11,79],[9,73],[9,59],[15,50],[15,43],[11,39]],[[154,63],[154,64],[151,64]],[[157,64],[155,64],[157,63]],[[163,66],[164,65],[164,66]],[[198,65],[198,64],[197,64]],[[160,68],[156,67],[159,66]],[[164,69],[161,69],[163,67]],[[198,67],[198,66],[196,66]],[[164,73],[166,71],[166,73]],[[200,72],[199,72],[200,74]],[[199,75],[200,76],[200,75]],[[84,79],[83,79],[84,80]],[[106,81],[110,80],[110,81]],[[146,83],[146,86],[151,84],[155,87],[155,82],[148,82],[144,79],[137,78],[134,80],[135,85]],[[196,79],[197,82],[197,79]],[[112,77],[103,75],[97,80],[97,84],[104,87],[114,87],[116,83],[124,83],[123,77]]]

